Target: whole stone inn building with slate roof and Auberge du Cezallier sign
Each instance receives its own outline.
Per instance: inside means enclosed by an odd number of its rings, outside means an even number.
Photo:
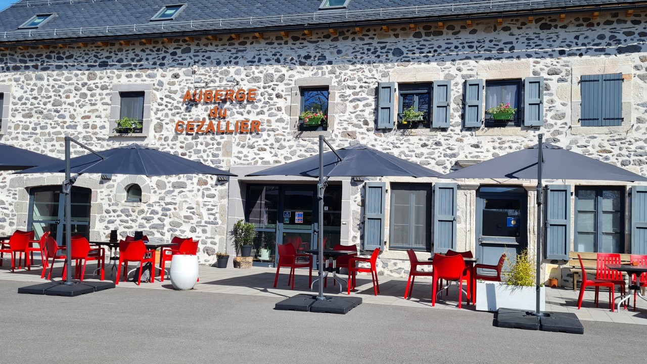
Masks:
[[[112,229],[193,236],[203,264],[234,254],[239,219],[257,224],[254,254],[269,247],[265,262],[274,244],[312,244],[316,181],[245,176],[317,154],[319,135],[444,174],[543,133],[647,176],[647,4],[419,3],[19,1],[0,12],[0,139],[54,157],[65,135],[94,150],[136,142],[237,174],[83,175],[74,185],[74,231],[92,240]],[[486,113],[500,103],[517,109],[512,119]],[[3,172],[0,231],[61,230],[62,179]],[[382,247],[380,274],[406,275],[406,249],[420,258],[471,250],[488,263],[503,249],[534,248],[535,185],[332,179],[323,234],[328,245]],[[568,251],[645,253],[640,183],[547,185],[570,192],[570,239],[565,255],[542,256],[544,277],[568,280],[559,269]],[[377,242],[364,239],[364,212],[377,202],[367,188],[384,204]],[[443,244],[434,238],[440,210],[453,221]]]

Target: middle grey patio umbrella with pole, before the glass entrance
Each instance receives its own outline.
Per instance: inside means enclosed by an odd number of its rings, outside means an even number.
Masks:
[[[323,143],[326,143],[332,152],[323,153]],[[318,226],[323,226],[323,192],[329,177],[439,177],[441,174],[424,168],[410,161],[394,157],[393,155],[369,148],[364,144],[355,144],[335,150],[323,136],[319,136],[319,155],[286,163],[250,173],[247,176],[306,176],[318,177],[317,199],[319,200]],[[317,299],[323,301],[323,234],[316,231],[319,247],[319,295]]]

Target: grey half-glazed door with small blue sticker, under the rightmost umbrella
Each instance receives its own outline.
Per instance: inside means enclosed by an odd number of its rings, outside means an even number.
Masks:
[[[527,247],[525,189],[481,187],[476,209],[479,263],[496,265],[503,253],[514,261],[516,254]]]

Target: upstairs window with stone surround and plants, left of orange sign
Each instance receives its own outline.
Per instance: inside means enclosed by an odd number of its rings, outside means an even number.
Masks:
[[[151,122],[152,84],[114,85],[109,136],[146,137]],[[118,120],[131,119],[131,129]],[[123,121],[123,120],[122,120]]]

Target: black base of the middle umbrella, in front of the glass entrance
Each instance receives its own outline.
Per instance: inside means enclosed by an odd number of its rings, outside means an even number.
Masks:
[[[316,295],[296,295],[278,302],[274,305],[274,310],[340,313],[345,315],[362,304],[361,297],[324,296],[323,298],[323,300],[318,300]]]

